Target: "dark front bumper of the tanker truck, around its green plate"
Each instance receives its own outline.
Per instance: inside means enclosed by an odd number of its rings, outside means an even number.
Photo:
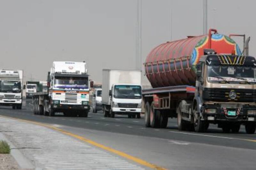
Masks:
[[[216,109],[216,113],[207,113],[207,109]],[[208,121],[228,121],[228,122],[256,122],[256,114],[248,115],[248,110],[256,110],[256,106],[247,105],[205,105],[201,108],[204,120]],[[233,111],[234,115],[230,115],[229,111]]]

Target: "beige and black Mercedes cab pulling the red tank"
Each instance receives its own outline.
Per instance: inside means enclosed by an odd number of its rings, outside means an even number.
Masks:
[[[256,126],[256,60],[242,55],[204,55],[196,65],[196,91],[193,117],[196,131],[209,123],[224,132],[247,133]]]

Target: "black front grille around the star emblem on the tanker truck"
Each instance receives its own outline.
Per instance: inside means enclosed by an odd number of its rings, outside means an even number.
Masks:
[[[229,92],[236,92],[236,98],[230,99]],[[233,102],[255,102],[256,91],[252,89],[222,89],[205,88],[203,91],[204,100],[211,101],[233,101]]]

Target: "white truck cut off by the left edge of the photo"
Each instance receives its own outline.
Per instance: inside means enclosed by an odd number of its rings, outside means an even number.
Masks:
[[[0,105],[22,108],[23,70],[0,70]]]

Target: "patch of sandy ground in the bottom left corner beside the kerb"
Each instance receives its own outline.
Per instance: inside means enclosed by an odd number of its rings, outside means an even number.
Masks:
[[[0,154],[0,169],[11,170],[20,168],[11,154]]]

